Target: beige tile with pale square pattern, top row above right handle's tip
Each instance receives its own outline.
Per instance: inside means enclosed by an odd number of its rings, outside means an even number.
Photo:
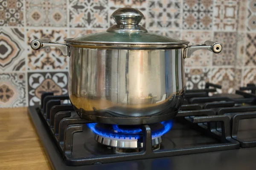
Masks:
[[[214,4],[215,30],[234,31],[237,27],[238,1],[215,0]]]

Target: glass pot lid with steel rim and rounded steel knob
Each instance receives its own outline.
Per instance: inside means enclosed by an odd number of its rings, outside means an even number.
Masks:
[[[178,45],[189,43],[189,41],[149,33],[146,28],[139,25],[144,15],[135,8],[120,8],[114,11],[111,16],[116,25],[108,28],[106,32],[66,39],[66,42],[132,45]]]

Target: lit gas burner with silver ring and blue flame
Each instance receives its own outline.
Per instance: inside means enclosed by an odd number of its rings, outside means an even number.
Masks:
[[[108,125],[88,123],[87,126],[95,133],[95,140],[101,144],[113,147],[116,153],[137,152],[143,148],[142,126]],[[149,125],[152,135],[152,148],[157,150],[163,141],[162,136],[172,128],[172,121]]]

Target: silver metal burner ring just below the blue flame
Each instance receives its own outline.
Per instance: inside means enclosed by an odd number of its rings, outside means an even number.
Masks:
[[[94,139],[104,145],[118,148],[143,148],[143,142],[139,142],[138,139],[112,139],[95,134]],[[163,142],[162,136],[152,139],[152,146],[158,145]]]

